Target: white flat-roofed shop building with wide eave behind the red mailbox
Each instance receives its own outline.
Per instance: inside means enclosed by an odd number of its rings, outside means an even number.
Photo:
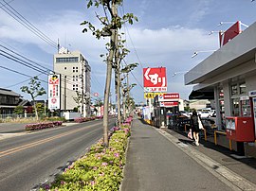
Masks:
[[[185,74],[185,84],[194,84],[192,97],[214,99],[219,130],[226,130],[228,116],[255,117],[256,108],[250,97],[250,92],[256,90],[255,53],[256,23]],[[244,147],[246,154],[256,156],[254,141],[245,142]]]

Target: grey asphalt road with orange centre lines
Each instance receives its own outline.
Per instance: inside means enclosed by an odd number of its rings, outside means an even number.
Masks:
[[[114,122],[110,119],[110,127]],[[102,133],[102,120],[98,120],[0,140],[0,190],[33,190],[53,180]]]

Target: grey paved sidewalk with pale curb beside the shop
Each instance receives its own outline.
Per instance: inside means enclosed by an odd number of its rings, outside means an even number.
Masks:
[[[256,160],[135,118],[121,191],[256,190]]]

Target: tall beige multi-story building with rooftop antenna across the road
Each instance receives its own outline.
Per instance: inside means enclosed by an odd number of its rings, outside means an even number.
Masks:
[[[53,70],[61,75],[61,111],[78,107],[82,116],[90,115],[91,67],[82,53],[61,48],[54,55]]]

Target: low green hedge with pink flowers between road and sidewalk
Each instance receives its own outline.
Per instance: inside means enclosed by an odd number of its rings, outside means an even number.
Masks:
[[[65,168],[55,182],[41,190],[119,190],[130,125],[114,127],[110,132],[108,148],[103,147],[101,139],[85,156]]]

